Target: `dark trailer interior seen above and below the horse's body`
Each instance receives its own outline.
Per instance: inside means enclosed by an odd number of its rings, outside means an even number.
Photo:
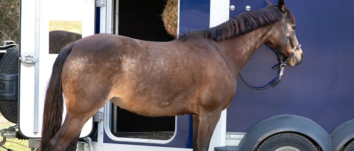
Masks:
[[[146,41],[175,39],[167,33],[161,18],[165,0],[116,0],[113,5],[113,34]],[[137,115],[113,103],[112,115],[111,130],[116,137],[168,140],[175,133],[175,116]]]

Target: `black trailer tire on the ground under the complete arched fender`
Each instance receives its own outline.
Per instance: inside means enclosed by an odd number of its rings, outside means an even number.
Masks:
[[[317,151],[316,146],[307,138],[294,133],[279,133],[265,139],[256,151]]]

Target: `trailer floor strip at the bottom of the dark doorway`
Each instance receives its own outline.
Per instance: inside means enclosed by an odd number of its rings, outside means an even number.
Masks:
[[[123,138],[141,138],[141,139],[157,139],[168,140],[172,138],[175,132],[135,132],[135,133],[113,133],[116,137]]]

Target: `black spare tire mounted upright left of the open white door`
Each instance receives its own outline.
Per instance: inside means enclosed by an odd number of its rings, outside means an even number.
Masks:
[[[18,46],[12,47],[0,59],[0,73],[18,74]],[[0,100],[0,112],[6,120],[17,124],[17,100]]]

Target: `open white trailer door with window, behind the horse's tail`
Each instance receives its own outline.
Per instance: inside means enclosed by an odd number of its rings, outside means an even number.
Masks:
[[[95,3],[93,0],[22,0],[20,21],[18,129],[27,138],[40,138],[45,89],[58,56],[55,48],[60,50],[94,34]],[[64,109],[63,116],[65,112]],[[90,118],[81,131],[81,138],[90,135],[92,123]]]

